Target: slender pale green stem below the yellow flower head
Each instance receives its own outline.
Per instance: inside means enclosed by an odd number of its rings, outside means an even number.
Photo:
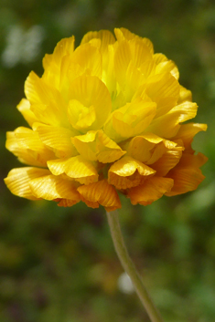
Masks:
[[[142,304],[145,306],[145,310],[148,316],[151,318],[151,321],[162,322],[162,318],[160,317],[160,314],[157,311],[156,306],[152,302],[147,290],[145,289],[142,279],[138,274],[138,272],[136,271],[134,263],[132,262],[132,259],[130,258],[127,252],[127,248],[124,244],[124,237],[121,232],[117,211],[107,213],[107,218],[111,229],[113,244],[114,244],[116,253],[118,254],[118,257],[121,261],[121,264],[124,267],[124,271],[127,273],[127,275],[130,276],[133,282],[135,291],[139,296]]]

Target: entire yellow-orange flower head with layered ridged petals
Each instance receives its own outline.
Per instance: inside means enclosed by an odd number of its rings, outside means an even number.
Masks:
[[[89,32],[76,49],[73,36],[62,39],[44,57],[43,76],[29,74],[17,109],[31,129],[6,140],[29,165],[5,178],[14,194],[113,211],[121,207],[117,192],[146,205],[204,179],[199,167],[207,158],[191,142],[207,125],[183,124],[197,104],[176,65],[154,54],[149,39],[114,32]]]

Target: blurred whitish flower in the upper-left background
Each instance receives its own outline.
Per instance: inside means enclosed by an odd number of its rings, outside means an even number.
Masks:
[[[6,36],[2,62],[6,68],[18,63],[27,64],[38,57],[45,32],[42,26],[31,26],[27,31],[22,26],[12,26]]]

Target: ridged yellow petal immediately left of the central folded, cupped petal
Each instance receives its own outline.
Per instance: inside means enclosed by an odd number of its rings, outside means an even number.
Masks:
[[[78,154],[71,143],[71,137],[75,135],[74,131],[38,123],[34,124],[34,130],[38,132],[39,139],[51,148],[57,157],[73,157]]]

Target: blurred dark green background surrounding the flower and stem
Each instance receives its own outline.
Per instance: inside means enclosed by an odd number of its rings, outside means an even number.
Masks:
[[[135,264],[167,322],[215,320],[215,3],[207,0],[0,0],[0,321],[148,321],[113,250],[103,209],[59,208],[12,195],[18,167],[5,131],[26,126],[16,110],[30,70],[65,36],[124,26],[173,59],[180,83],[208,123],[194,147],[209,157],[196,192],[150,206],[122,199],[120,220]]]

